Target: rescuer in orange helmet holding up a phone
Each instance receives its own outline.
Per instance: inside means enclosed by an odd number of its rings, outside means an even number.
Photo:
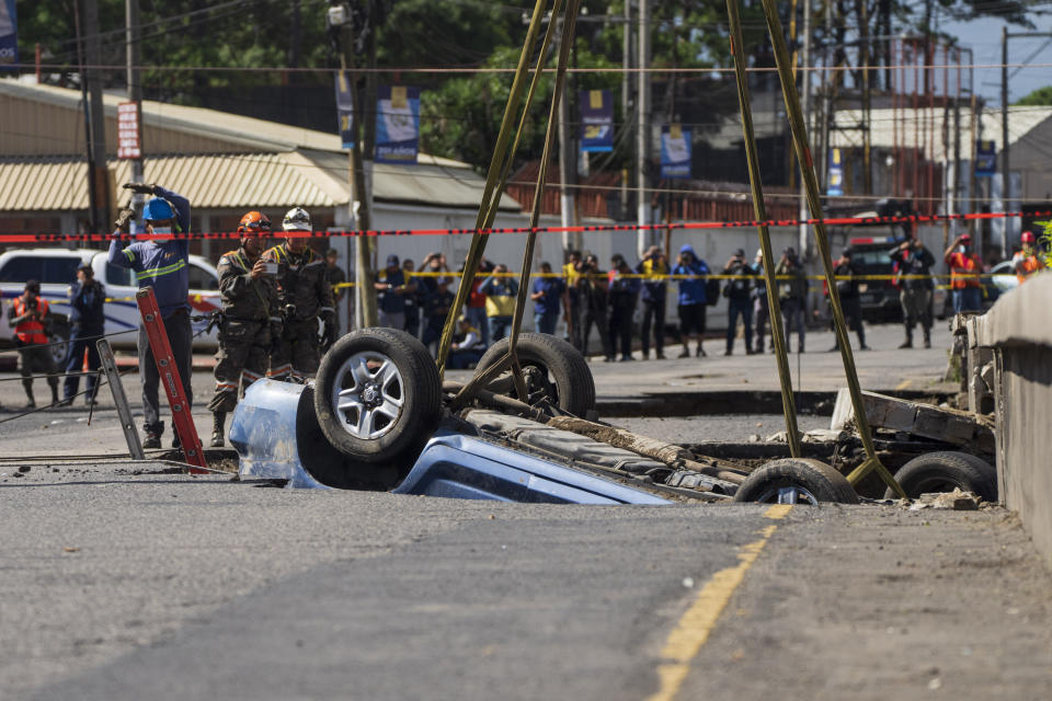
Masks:
[[[271,230],[271,220],[259,211],[241,217],[238,232],[259,234]],[[267,275],[261,257],[264,239],[241,237],[237,251],[219,258],[219,295],[222,322],[219,324],[219,353],[216,354],[216,393],[208,403],[211,412],[211,447],[222,447],[227,414],[238,403],[238,393],[266,372],[272,340],[282,335],[277,286]]]

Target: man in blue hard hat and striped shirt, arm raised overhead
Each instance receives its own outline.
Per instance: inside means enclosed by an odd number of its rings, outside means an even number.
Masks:
[[[188,199],[160,185],[126,183],[124,187],[136,193],[153,195],[142,208],[147,233],[164,235],[190,231]],[[127,241],[110,243],[110,263],[132,268],[135,271],[139,287],[153,288],[187,403],[193,401],[194,395],[190,387],[193,332],[187,301],[188,258],[190,241],[187,239],[151,239],[136,241],[130,245]],[[146,329],[141,325],[139,326],[139,377],[142,381],[142,433],[145,434],[142,447],[160,448],[161,434],[164,433],[158,400],[160,374],[157,371],[153,354],[150,352]],[[179,436],[172,441],[172,447],[179,447]]]

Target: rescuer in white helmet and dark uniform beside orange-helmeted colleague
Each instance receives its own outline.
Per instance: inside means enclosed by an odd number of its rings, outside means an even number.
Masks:
[[[293,207],[285,214],[282,229],[286,232],[285,242],[263,254],[264,261],[278,265],[277,296],[284,311],[281,341],[271,354],[266,375],[302,382],[318,371],[318,318],[324,322],[324,345],[335,341],[336,315],[324,261],[302,237],[289,235],[311,231],[310,215],[301,207]]]

